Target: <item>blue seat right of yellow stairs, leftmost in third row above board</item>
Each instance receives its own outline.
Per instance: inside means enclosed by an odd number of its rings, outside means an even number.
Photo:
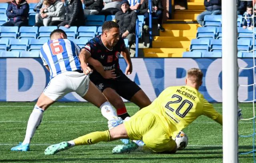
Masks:
[[[196,38],[215,38],[216,27],[198,27]]]

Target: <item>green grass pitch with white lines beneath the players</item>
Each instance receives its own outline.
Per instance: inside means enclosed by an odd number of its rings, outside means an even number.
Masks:
[[[28,152],[13,152],[10,148],[22,142],[34,102],[0,103],[0,162],[12,163],[222,163],[222,126],[201,116],[183,131],[188,135],[188,147],[176,154],[156,154],[137,150],[114,155],[112,149],[121,141],[78,146],[56,155],[44,155],[48,145],[68,141],[94,131],[108,129],[107,120],[100,109],[89,103],[56,103],[44,112],[42,123],[36,131]],[[133,115],[139,110],[126,103]],[[222,104],[214,104],[222,112]],[[253,116],[252,104],[240,104],[244,118]],[[232,134],[232,133],[230,133]],[[239,134],[253,134],[252,121],[239,121]],[[229,135],[225,135],[229,136]],[[253,139],[239,138],[239,151],[252,150]],[[230,149],[232,150],[232,149]],[[253,162],[252,154],[239,155],[240,163]]]

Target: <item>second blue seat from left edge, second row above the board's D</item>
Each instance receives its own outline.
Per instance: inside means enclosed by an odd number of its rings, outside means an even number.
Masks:
[[[12,39],[9,44],[9,51],[27,51],[28,39]]]

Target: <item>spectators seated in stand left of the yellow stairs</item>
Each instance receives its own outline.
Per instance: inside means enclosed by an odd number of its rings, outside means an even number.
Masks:
[[[115,20],[120,26],[121,37],[129,40],[131,46],[136,39],[136,20],[138,15],[144,15],[143,29],[148,33],[149,8],[148,0],[84,0],[83,9],[81,0],[40,0],[35,6],[34,26],[85,26],[88,15],[115,15]],[[157,17],[158,30],[162,27],[163,18],[162,0],[152,0],[152,16]],[[14,0],[8,4],[6,15],[10,19],[2,26],[28,26],[29,5],[26,0]]]

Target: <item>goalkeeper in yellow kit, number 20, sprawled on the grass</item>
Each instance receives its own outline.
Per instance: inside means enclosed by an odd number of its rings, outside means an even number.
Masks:
[[[200,69],[187,72],[186,86],[170,86],[146,108],[138,111],[129,121],[104,132],[92,132],[72,141],[54,144],[45,150],[52,155],[77,145],[92,145],[100,141],[117,139],[143,140],[155,152],[175,153],[177,145],[172,137],[201,115],[206,115],[222,125],[222,115],[198,92],[202,85],[203,73]],[[113,153],[123,153],[136,149],[136,143],[118,145]]]

